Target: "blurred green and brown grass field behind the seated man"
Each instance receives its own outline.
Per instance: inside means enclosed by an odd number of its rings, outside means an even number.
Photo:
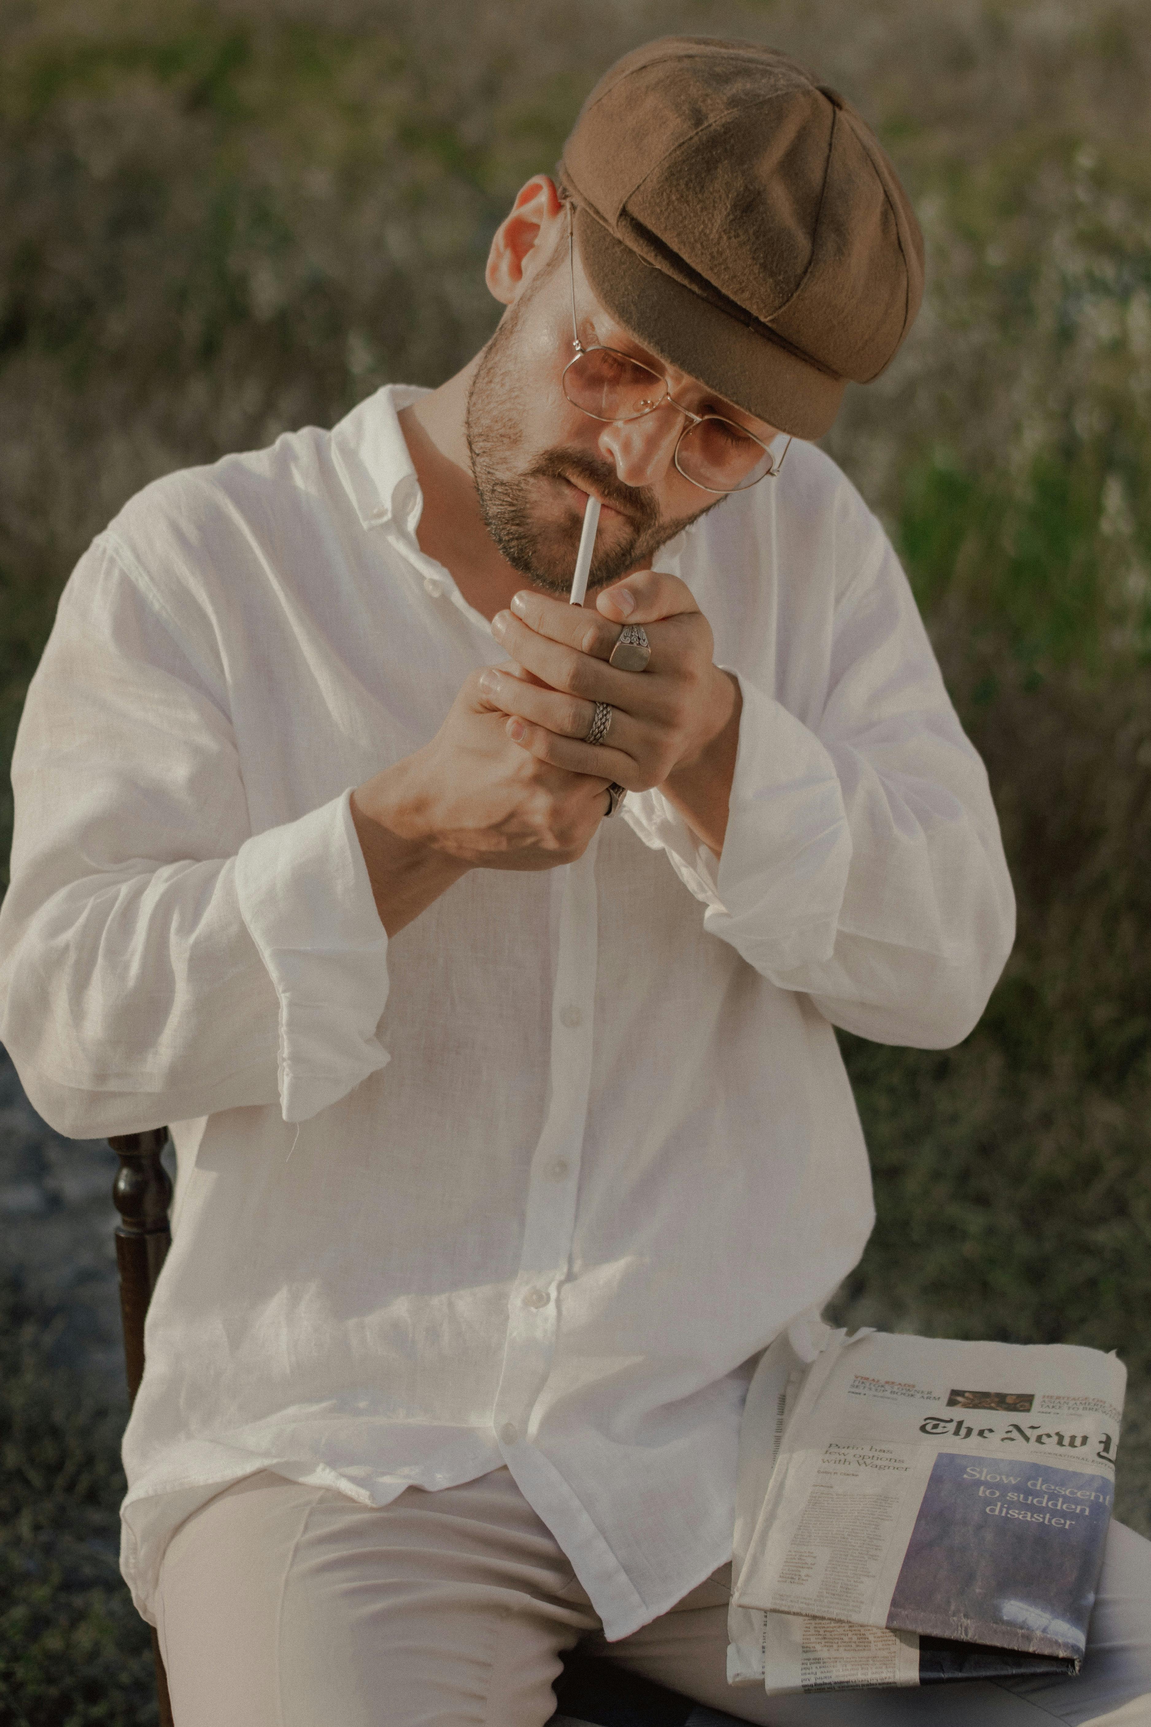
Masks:
[[[124,497],[487,338],[490,233],[618,54],[770,41],[877,126],[928,295],[825,442],[987,760],[1020,936],[961,1048],[844,1038],[880,1221],[837,1316],[1118,1349],[1118,1509],[1151,1532],[1146,0],[0,0],[0,31],[5,760],[59,589]],[[0,1720],[147,1722],[116,1420],[12,1300]]]

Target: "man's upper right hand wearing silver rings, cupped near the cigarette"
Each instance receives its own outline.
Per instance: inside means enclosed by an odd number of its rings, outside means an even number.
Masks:
[[[607,665],[623,623],[647,630],[644,672]],[[485,672],[481,689],[521,750],[628,791],[659,786],[706,845],[723,848],[740,694],[713,663],[711,625],[678,577],[640,570],[606,589],[595,611],[519,592],[492,630],[514,667]],[[611,729],[587,744],[597,701],[611,705]]]

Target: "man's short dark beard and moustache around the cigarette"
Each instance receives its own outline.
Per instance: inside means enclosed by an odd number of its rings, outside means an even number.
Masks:
[[[530,299],[531,294],[504,318],[471,380],[464,418],[471,473],[483,523],[497,547],[513,570],[549,594],[571,589],[585,509],[571,494],[571,503],[563,499],[557,511],[554,482],[594,490],[618,509],[621,522],[613,523],[611,537],[601,523],[587,580],[590,592],[628,570],[645,568],[661,546],[714,504],[664,520],[651,487],[625,485],[613,463],[573,444],[554,444],[521,465],[528,397],[518,383],[516,330]]]

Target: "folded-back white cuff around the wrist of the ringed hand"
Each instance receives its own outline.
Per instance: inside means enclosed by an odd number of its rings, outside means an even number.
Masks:
[[[835,763],[816,734],[735,675],[744,705],[723,855],[661,791],[628,793],[621,813],[668,853],[706,907],[704,929],[771,976],[832,957],[851,831]]]

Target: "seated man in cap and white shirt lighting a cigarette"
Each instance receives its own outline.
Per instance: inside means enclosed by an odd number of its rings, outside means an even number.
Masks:
[[[1013,936],[906,580],[802,442],[918,230],[839,95],[666,40],[488,285],[438,390],[133,499],[29,691],[3,1038],[64,1131],[179,1159],[124,1575],[179,1727],[542,1727],[580,1641],[906,1718],[725,1649],[747,1380],[873,1218],[832,1024],[953,1043]]]

